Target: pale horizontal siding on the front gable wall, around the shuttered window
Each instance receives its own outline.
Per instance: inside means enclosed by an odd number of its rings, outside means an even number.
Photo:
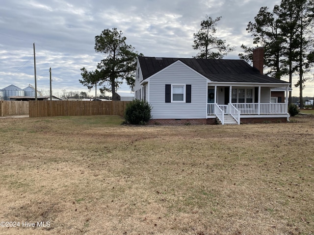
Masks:
[[[190,84],[191,103],[166,103],[166,84]],[[180,61],[157,73],[149,81],[153,119],[206,118],[207,80]]]

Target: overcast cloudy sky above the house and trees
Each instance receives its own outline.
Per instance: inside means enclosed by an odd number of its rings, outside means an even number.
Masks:
[[[37,89],[88,89],[81,85],[80,69],[95,70],[102,55],[94,50],[95,36],[116,27],[127,44],[145,56],[187,57],[193,33],[209,15],[221,16],[217,33],[236,50],[225,59],[238,59],[242,44],[253,46],[246,26],[262,6],[270,10],[280,0],[10,0],[0,4],[0,89],[14,84],[34,86],[33,43],[36,50]],[[287,80],[287,79],[285,79]],[[296,79],[293,84],[296,83]],[[130,91],[127,85],[119,89]],[[118,91],[118,92],[119,92]],[[92,94],[94,92],[92,91]],[[299,88],[292,95],[298,96]],[[304,96],[313,96],[307,83]]]

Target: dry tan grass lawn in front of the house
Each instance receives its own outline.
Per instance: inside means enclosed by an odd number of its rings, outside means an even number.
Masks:
[[[314,118],[0,120],[1,234],[314,234]],[[25,228],[22,222],[50,222]]]

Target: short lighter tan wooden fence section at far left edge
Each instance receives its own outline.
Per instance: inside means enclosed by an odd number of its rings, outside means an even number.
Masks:
[[[29,114],[28,101],[0,100],[0,117]]]

